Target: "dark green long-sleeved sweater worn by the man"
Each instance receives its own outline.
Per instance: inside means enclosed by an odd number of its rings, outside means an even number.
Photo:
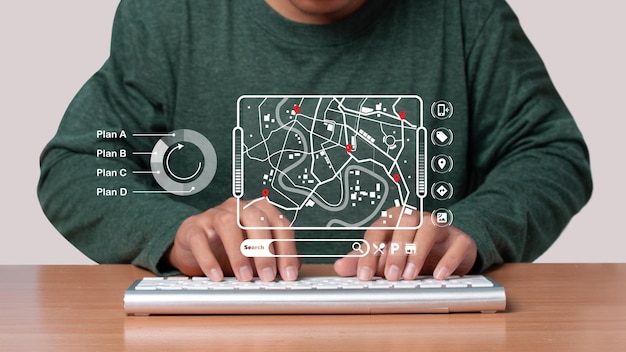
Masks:
[[[443,127],[454,138],[429,140],[429,156],[454,161],[445,175],[429,167],[429,187],[443,179],[454,193],[429,194],[424,210],[448,208],[476,241],[474,271],[534,260],[590,197],[583,138],[504,0],[370,0],[323,26],[290,22],[262,0],[122,0],[110,58],[41,156],[42,207],[93,260],[170,271],[162,256],[180,223],[232,196],[238,98],[305,94],[421,97],[429,135]],[[431,114],[440,100],[453,104],[449,119]],[[158,137],[132,134],[178,129],[215,148],[210,185],[186,197],[132,193],[159,189],[131,172],[150,170],[136,152]],[[185,155],[181,164],[197,164]]]

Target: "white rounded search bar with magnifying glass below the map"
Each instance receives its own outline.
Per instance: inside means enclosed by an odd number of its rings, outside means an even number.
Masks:
[[[315,242],[317,245],[345,243],[345,251],[342,253],[328,254],[275,254],[272,253],[272,243],[274,242]],[[333,246],[334,247],[334,246]],[[246,239],[239,247],[241,253],[246,257],[299,257],[299,258],[341,258],[341,257],[364,257],[370,251],[370,244],[363,239],[354,238],[290,238],[290,239]],[[343,250],[343,248],[342,248]],[[354,254],[348,252],[353,251]]]

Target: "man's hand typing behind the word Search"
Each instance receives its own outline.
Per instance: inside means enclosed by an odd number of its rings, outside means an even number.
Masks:
[[[244,227],[288,227],[289,221],[266,200],[242,202]],[[206,275],[221,281],[224,274],[234,274],[240,281],[250,281],[255,273],[263,281],[298,277],[300,261],[296,257],[259,257],[251,260],[240,250],[241,242],[250,239],[291,239],[292,230],[242,230],[237,225],[237,200],[230,198],[215,208],[187,218],[178,228],[174,245],[167,253],[170,264],[189,276]],[[274,242],[274,253],[297,254],[295,243]]]

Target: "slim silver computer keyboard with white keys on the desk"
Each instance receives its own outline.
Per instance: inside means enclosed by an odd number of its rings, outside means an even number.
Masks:
[[[497,312],[505,306],[504,288],[482,275],[410,281],[333,276],[272,282],[146,277],[124,294],[124,307],[131,315]]]

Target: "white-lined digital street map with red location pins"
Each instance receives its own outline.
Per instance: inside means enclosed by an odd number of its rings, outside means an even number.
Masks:
[[[381,217],[397,228],[387,210],[419,212],[426,195],[422,110],[418,96],[243,96],[233,195],[267,200],[294,229],[364,229]]]

